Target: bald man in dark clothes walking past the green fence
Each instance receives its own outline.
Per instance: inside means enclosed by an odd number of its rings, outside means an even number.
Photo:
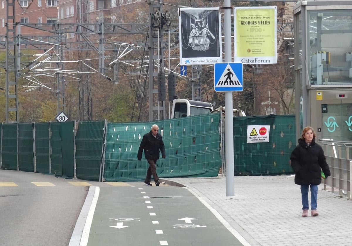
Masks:
[[[144,180],[144,185],[151,186],[150,181],[152,179],[152,174],[156,186],[160,185],[158,174],[156,174],[156,161],[159,159],[159,152],[161,151],[161,156],[165,159],[165,145],[163,138],[158,133],[158,125],[152,125],[149,133],[144,134],[142,142],[140,142],[137,159],[142,160],[142,152],[144,149],[144,157],[149,163],[149,168],[147,171],[147,176]],[[159,151],[160,150],[160,151]]]

